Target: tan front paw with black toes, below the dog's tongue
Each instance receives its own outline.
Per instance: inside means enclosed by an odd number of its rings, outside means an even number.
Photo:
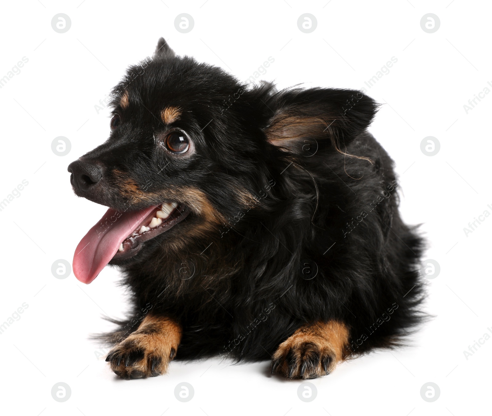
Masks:
[[[127,380],[158,376],[176,356],[181,332],[170,318],[146,316],[135,332],[109,352],[106,361]]]

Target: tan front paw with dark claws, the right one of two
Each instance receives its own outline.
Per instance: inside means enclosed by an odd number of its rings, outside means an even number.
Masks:
[[[300,327],[282,342],[272,357],[272,374],[313,379],[332,372],[344,359],[348,328],[338,321]]]

